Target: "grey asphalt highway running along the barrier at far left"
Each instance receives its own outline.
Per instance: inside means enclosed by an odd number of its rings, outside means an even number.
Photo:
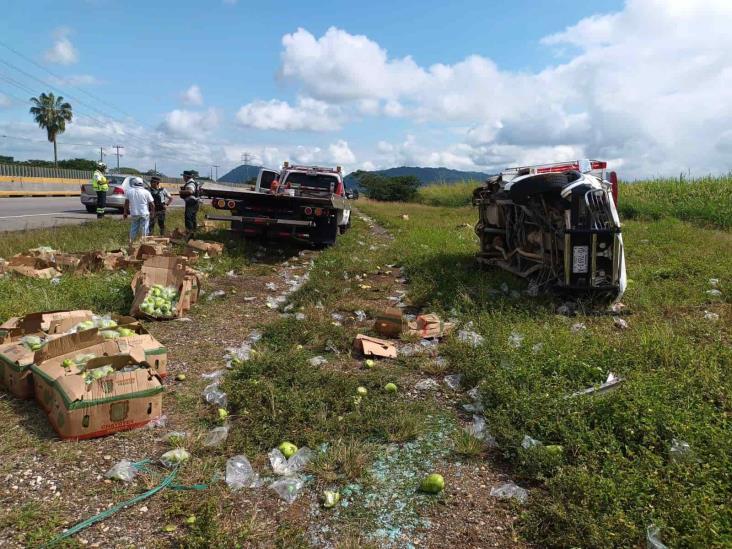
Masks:
[[[173,207],[176,205],[182,205],[180,199],[173,200]],[[115,210],[107,210],[107,215],[122,218]],[[94,219],[96,216],[86,212],[78,196],[0,198],[0,232],[75,225]]]

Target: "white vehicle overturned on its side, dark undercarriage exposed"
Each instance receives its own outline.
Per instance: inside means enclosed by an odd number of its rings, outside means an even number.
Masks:
[[[473,192],[478,262],[618,300],[627,276],[617,200],[617,176],[600,160],[503,170]]]

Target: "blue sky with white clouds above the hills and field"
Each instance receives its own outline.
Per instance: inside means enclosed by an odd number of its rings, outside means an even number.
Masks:
[[[77,112],[62,157],[119,143],[142,169],[224,170],[247,151],[349,169],[586,155],[634,176],[726,171],[730,109],[708,97],[729,99],[728,4],[12,2],[0,154],[49,157],[25,100],[51,84]]]

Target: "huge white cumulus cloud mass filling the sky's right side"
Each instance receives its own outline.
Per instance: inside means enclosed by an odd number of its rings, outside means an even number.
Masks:
[[[300,28],[283,37],[280,73],[344,117],[442,125],[443,143],[419,154],[398,144],[405,159],[490,167],[580,155],[612,159],[626,177],[724,172],[730,28],[728,0],[628,0],[543,38],[558,61],[536,72],[478,55],[420,66],[363,35]]]

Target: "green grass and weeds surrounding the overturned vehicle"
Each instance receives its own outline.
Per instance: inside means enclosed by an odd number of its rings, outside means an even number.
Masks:
[[[529,540],[640,545],[653,523],[669,546],[730,543],[732,311],[729,297],[710,302],[705,293],[717,278],[727,296],[729,232],[666,216],[626,222],[630,329],[618,331],[590,311],[557,316],[550,298],[512,292],[523,289],[515,278],[476,270],[470,208],[360,207],[396,236],[412,300],[472,321],[485,338],[477,348],[453,339],[445,355],[466,388],[480,386],[496,458],[538,487],[522,519]],[[707,310],[720,320],[706,320]],[[567,398],[609,372],[625,380],[616,392]],[[522,448],[525,435],[544,446]],[[674,439],[691,454],[675,459]]]

